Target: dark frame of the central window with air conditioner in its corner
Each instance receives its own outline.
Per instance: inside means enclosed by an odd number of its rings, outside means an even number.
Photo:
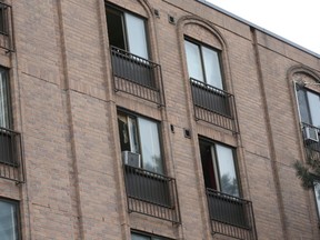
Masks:
[[[120,150],[121,152],[122,151],[126,151],[126,150],[122,150],[121,149],[121,138],[120,138],[120,129],[119,129],[119,114],[120,116],[126,116],[127,118],[133,118],[136,119],[136,123],[137,123],[137,140],[138,140],[138,144],[139,144],[139,153],[141,156],[141,169],[143,170],[147,170],[147,171],[151,171],[151,172],[154,172],[157,174],[162,174],[162,176],[166,176],[167,173],[167,169],[166,169],[166,159],[164,159],[164,154],[163,154],[163,144],[162,144],[162,132],[161,132],[161,122],[158,121],[158,120],[154,120],[154,119],[151,119],[151,118],[148,118],[146,116],[141,116],[141,114],[138,114],[138,113],[133,113],[131,111],[128,111],[126,109],[122,109],[122,108],[119,108],[117,110],[117,120],[118,120],[118,133],[119,133],[119,144],[120,144]],[[150,170],[150,169],[147,169],[144,168],[143,166],[143,154],[142,154],[142,143],[141,143],[141,139],[140,139],[140,126],[139,126],[139,122],[138,122],[138,119],[144,119],[144,120],[148,120],[150,122],[153,122],[154,124],[157,124],[157,131],[158,131],[158,141],[159,141],[159,153],[160,153],[160,162],[161,162],[161,171],[158,172],[158,171],[154,171],[154,170]],[[129,132],[128,132],[129,133]],[[129,133],[130,134],[130,133]],[[130,138],[129,138],[130,140]],[[130,143],[130,151],[131,151],[131,142]]]

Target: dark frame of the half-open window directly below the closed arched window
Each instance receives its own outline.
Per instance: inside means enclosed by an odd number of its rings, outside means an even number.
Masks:
[[[226,144],[223,142],[218,142],[218,141],[214,141],[212,139],[208,139],[207,137],[199,136],[199,151],[200,151],[200,160],[201,160],[201,167],[202,167],[203,183],[204,183],[204,188],[206,189],[209,188],[209,187],[207,187],[206,178],[204,178],[202,157],[201,157],[201,149],[200,149],[201,143],[210,146],[211,161],[212,161],[212,168],[213,168],[212,171],[214,172],[214,184],[216,184],[216,189],[213,189],[213,190],[222,192],[224,194],[233,196],[236,198],[242,198],[241,178],[240,178],[240,172],[239,172],[237,149],[234,147],[228,146],[228,144]],[[219,167],[217,146],[221,146],[221,147],[228,148],[228,149],[230,149],[232,151],[232,163],[233,163],[234,176],[236,176],[236,180],[237,180],[238,194],[230,194],[228,192],[222,191],[222,184],[221,184],[222,176],[220,173],[221,170],[220,170],[220,167]],[[213,156],[212,156],[212,148],[214,149]]]

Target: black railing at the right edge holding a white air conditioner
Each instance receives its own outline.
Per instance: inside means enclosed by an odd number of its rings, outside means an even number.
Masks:
[[[320,159],[320,129],[302,122],[302,136],[304,139],[307,158]]]

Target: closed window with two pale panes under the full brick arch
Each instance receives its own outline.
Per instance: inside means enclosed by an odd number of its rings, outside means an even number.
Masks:
[[[184,40],[189,77],[218,89],[223,89],[218,51]]]

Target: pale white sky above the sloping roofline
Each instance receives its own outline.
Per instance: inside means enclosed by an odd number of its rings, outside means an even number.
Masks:
[[[320,54],[320,0],[207,0]]]

